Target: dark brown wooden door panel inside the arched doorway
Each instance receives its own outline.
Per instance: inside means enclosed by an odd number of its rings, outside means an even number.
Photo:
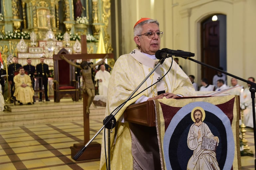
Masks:
[[[202,55],[201,61],[213,67],[219,66],[219,21],[204,22],[201,24]],[[212,84],[216,71],[206,66],[201,66],[201,77],[207,78]]]

